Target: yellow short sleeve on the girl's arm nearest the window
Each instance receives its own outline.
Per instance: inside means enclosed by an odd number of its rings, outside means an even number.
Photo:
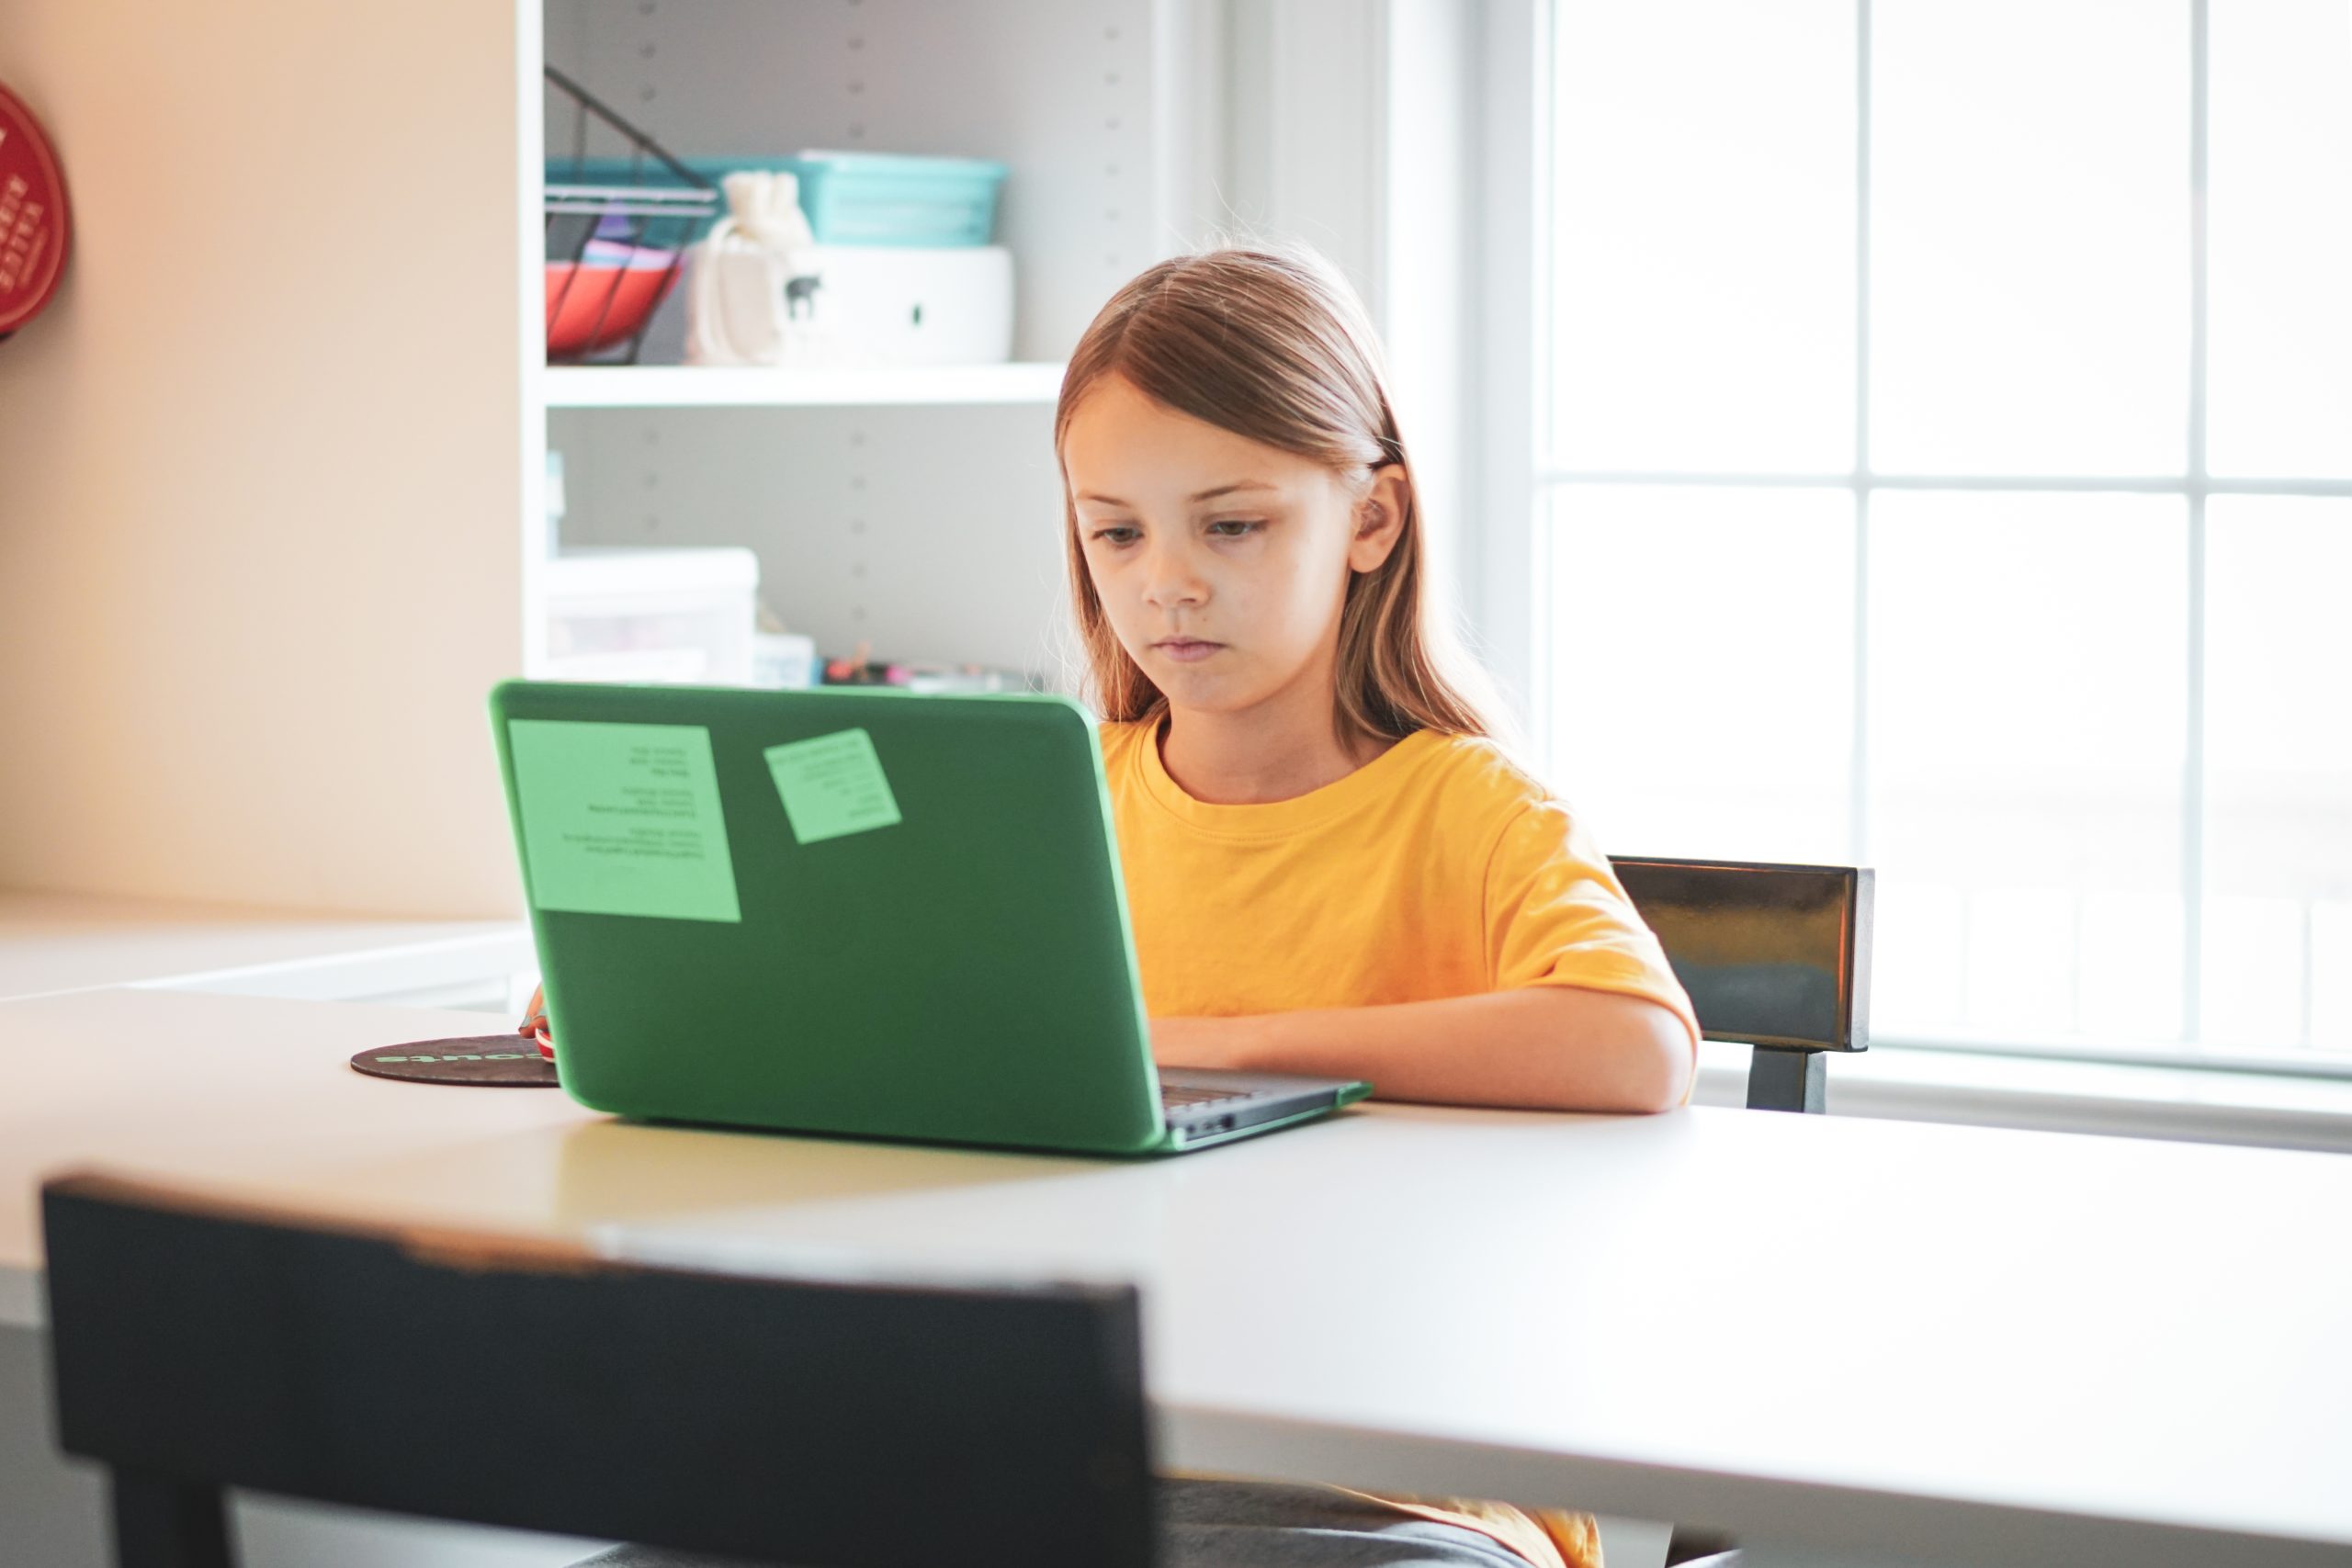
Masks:
[[[1581,985],[1670,1009],[1698,1048],[1691,997],[1592,835],[1557,799],[1522,806],[1486,858],[1486,966],[1496,990]]]

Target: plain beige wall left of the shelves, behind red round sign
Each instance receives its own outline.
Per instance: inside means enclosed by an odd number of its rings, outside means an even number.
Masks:
[[[0,343],[0,886],[520,907],[524,49],[496,0],[7,2],[75,235]]]

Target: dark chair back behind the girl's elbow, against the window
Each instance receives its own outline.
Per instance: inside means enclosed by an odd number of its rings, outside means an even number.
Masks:
[[[1818,1112],[1828,1051],[1870,1046],[1872,872],[1856,865],[1616,860],[1698,1011],[1755,1046],[1750,1110]]]

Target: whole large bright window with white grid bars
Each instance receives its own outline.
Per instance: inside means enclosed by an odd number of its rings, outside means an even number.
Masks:
[[[2352,12],[1557,0],[1550,63],[1602,842],[1875,865],[1884,1041],[2352,1072]]]

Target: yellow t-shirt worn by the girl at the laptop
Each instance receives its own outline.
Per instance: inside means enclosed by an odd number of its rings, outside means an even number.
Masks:
[[[1105,724],[1103,771],[1152,1018],[1583,985],[1698,1018],[1576,816],[1491,741],[1421,731],[1258,806],[1197,802],[1157,724]],[[1590,1514],[1383,1497],[1543,1568],[1599,1568]]]

